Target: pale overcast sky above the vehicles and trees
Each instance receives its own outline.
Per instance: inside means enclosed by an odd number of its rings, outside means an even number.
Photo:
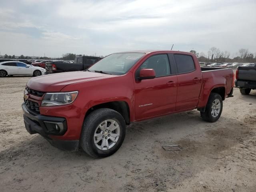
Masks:
[[[0,52],[60,57],[124,50],[256,53],[256,0],[1,0]]]

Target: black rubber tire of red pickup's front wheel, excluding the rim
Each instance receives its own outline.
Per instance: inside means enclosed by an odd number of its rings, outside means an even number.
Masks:
[[[101,150],[94,144],[94,133],[98,126],[105,120],[114,120],[119,125],[119,138],[109,149]],[[82,127],[80,146],[90,156],[94,158],[107,157],[114,154],[122,145],[126,132],[126,124],[122,115],[109,108],[101,108],[91,112],[84,120]],[[103,142],[103,140],[102,140]]]

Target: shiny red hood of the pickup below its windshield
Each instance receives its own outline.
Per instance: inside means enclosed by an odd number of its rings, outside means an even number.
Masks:
[[[58,92],[69,84],[111,77],[115,77],[115,75],[85,71],[64,72],[31,78],[28,81],[27,86],[30,89],[42,92]]]

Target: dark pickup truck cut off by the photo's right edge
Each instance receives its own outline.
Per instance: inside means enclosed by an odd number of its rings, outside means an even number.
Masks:
[[[239,66],[236,70],[235,86],[239,87],[243,95],[256,89],[256,67]]]

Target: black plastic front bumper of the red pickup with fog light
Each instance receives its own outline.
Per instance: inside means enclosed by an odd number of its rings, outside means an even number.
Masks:
[[[56,140],[51,138],[51,136],[61,136],[66,132],[67,123],[65,118],[30,114],[24,103],[22,104],[22,110],[26,130],[30,134],[40,134],[52,146],[61,150],[78,150],[79,140]]]

